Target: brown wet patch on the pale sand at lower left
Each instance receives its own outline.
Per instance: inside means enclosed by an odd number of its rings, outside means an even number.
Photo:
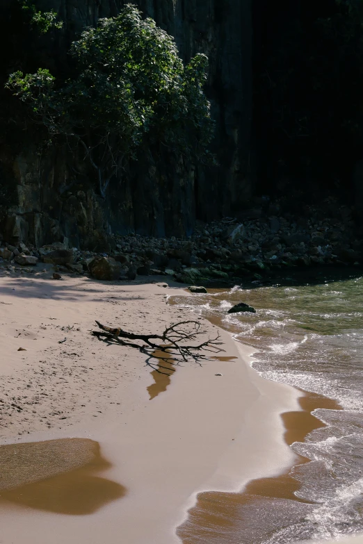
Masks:
[[[0,446],[0,507],[93,513],[126,494],[124,486],[97,475],[110,466],[99,443],[87,438]]]

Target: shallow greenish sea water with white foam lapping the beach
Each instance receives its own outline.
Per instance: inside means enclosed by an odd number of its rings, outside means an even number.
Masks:
[[[253,366],[265,378],[325,395],[342,407],[316,409],[326,426],[291,445],[309,460],[291,470],[300,483],[296,504],[259,497],[231,520],[224,536],[217,527],[211,531],[210,543],[287,544],[363,531],[363,277],[278,282],[173,297],[256,347]],[[257,313],[228,314],[238,302]],[[185,543],[200,541],[193,527],[188,531]]]

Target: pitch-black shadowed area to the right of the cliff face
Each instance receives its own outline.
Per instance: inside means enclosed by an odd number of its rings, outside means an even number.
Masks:
[[[362,206],[362,1],[252,5],[257,190]]]

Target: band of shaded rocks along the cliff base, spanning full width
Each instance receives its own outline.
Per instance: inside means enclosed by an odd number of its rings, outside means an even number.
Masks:
[[[108,254],[70,248],[68,240],[35,248],[0,243],[0,267],[24,267],[39,261],[56,272],[90,273],[96,279],[132,280],[137,275],[172,275],[189,285],[233,283],[272,270],[318,265],[360,265],[363,243],[355,237],[352,211],[341,206],[337,217],[270,215],[239,222],[233,217],[197,222],[188,239],[111,236]]]

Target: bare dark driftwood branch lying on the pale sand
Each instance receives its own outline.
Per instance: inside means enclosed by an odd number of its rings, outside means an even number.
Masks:
[[[216,338],[208,337],[203,342],[199,341],[206,334],[199,321],[171,324],[162,334],[135,334],[120,328],[112,329],[98,321],[96,323],[101,330],[92,331],[93,336],[106,343],[138,349],[147,355],[147,365],[162,373],[165,368],[163,362],[179,365],[182,362],[195,361],[201,364],[208,358],[209,353],[217,354],[224,351],[219,347],[223,344],[219,333]]]

